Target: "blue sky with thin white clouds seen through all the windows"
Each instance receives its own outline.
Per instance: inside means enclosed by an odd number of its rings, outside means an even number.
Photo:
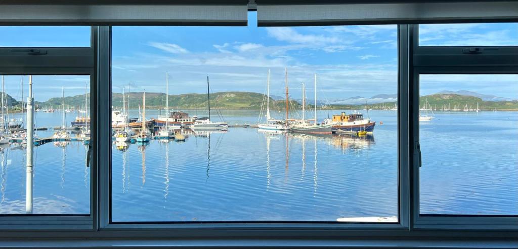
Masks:
[[[217,91],[284,95],[284,68],[290,95],[301,97],[301,83],[313,95],[317,74],[321,101],[370,98],[397,92],[397,26],[257,27],[249,12],[246,27],[116,26],[112,34],[112,86],[122,92],[205,93],[206,77]],[[89,27],[0,27],[0,46],[90,46]],[[28,36],[31,34],[31,36]],[[518,24],[429,24],[420,27],[420,45],[518,45]],[[35,76],[39,101],[84,93],[88,76]],[[26,79],[24,80],[27,81]],[[427,75],[421,95],[471,90],[518,99],[516,75]],[[6,77],[16,92],[20,76]],[[48,86],[48,87],[46,87]],[[363,100],[362,100],[363,101]]]

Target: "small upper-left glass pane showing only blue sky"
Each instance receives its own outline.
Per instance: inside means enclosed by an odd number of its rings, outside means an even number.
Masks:
[[[0,26],[0,46],[90,47],[90,26]]]

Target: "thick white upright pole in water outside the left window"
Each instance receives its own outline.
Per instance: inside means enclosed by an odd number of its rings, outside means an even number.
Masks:
[[[27,152],[25,177],[25,212],[33,212],[33,146],[34,146],[34,110],[32,98],[32,75],[29,75],[29,96],[27,97]]]

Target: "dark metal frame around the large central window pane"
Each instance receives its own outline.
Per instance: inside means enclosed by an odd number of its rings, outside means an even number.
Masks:
[[[399,68],[407,68],[408,60],[404,59],[408,57],[408,26],[407,25],[397,25],[397,38],[398,39],[398,83],[397,83],[397,91],[398,91],[398,106],[400,110],[406,110],[408,108],[408,78],[406,74],[401,74],[399,72]],[[111,59],[111,26],[101,26],[99,27],[99,58],[110,57]],[[105,31],[103,31],[105,30]],[[103,38],[103,36],[105,36]],[[109,39],[108,39],[109,37]],[[405,42],[399,42],[399,38],[402,38]],[[102,66],[99,64],[99,66]],[[106,68],[99,67],[99,80],[102,82],[100,85],[103,86],[103,90],[100,92],[105,93],[109,92],[111,94],[111,75],[107,76],[105,79],[103,75],[103,71],[110,72],[111,71],[111,63],[105,65]],[[106,80],[110,80],[109,82],[105,82]],[[108,88],[106,88],[108,87]],[[107,90],[105,90],[107,89]],[[111,103],[106,105],[106,103],[99,103],[99,110],[103,110],[105,113],[101,114],[108,115],[111,118]],[[109,107],[105,110],[103,107]],[[109,165],[105,165],[105,162],[102,162],[99,173],[99,181],[100,181],[100,189],[104,190],[100,192],[99,202],[100,202],[100,217],[99,220],[99,228],[103,230],[119,230],[119,229],[158,229],[158,230],[191,230],[191,229],[408,229],[409,224],[409,196],[408,196],[408,182],[409,182],[409,174],[408,174],[408,150],[401,149],[401,145],[405,144],[403,137],[408,137],[408,125],[402,125],[403,123],[408,124],[408,117],[406,115],[402,115],[402,113],[398,110],[398,222],[396,223],[351,223],[351,222],[275,222],[275,221],[267,221],[267,222],[248,222],[248,221],[238,221],[238,222],[198,222],[198,223],[181,223],[181,222],[111,222],[110,214],[111,214],[111,146],[108,148],[109,151]],[[101,129],[110,128],[111,134],[111,126],[110,123],[100,123],[99,126],[103,127]],[[107,131],[102,131],[102,133],[108,134]],[[111,145],[111,138],[105,138],[105,143]],[[108,143],[109,141],[109,143]],[[102,141],[100,141],[102,142]],[[108,155],[107,155],[108,156]],[[108,157],[106,157],[108,158]],[[107,177],[109,176],[109,177]],[[106,189],[109,188],[109,191]]]

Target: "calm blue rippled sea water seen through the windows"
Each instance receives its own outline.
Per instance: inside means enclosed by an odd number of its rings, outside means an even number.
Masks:
[[[259,116],[257,111],[221,114],[232,125],[256,123]],[[434,120],[421,122],[421,213],[518,214],[517,114],[437,112]],[[68,113],[68,122],[76,115]],[[218,115],[212,115],[217,120]],[[319,112],[319,119],[327,115]],[[114,142],[112,220],[336,221],[396,216],[396,112],[369,115],[377,125],[374,134],[365,137],[231,128],[185,131],[185,142],[155,140],[126,148]],[[38,127],[57,126],[60,120],[57,112],[36,114]],[[35,213],[89,213],[85,152],[79,142],[35,148]],[[24,213],[24,149],[4,146],[0,162],[0,212]]]

